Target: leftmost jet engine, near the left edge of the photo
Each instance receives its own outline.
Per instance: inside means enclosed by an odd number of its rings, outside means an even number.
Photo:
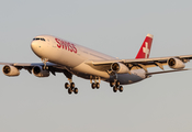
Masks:
[[[14,77],[20,75],[20,70],[16,67],[10,66],[10,65],[3,66],[2,72],[5,76],[9,76],[9,77]]]

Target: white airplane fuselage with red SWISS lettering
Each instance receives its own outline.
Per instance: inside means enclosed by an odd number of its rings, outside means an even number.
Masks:
[[[105,81],[114,80],[114,76],[110,76],[106,72],[92,68],[87,65],[86,62],[116,58],[50,35],[39,35],[36,36],[36,38],[45,40],[33,40],[31,44],[33,52],[39,58],[66,66],[72,74],[84,79],[101,77],[101,79]],[[116,78],[121,85],[133,84],[146,78],[146,72],[144,69],[135,69],[131,70],[131,73],[132,74],[116,74]]]

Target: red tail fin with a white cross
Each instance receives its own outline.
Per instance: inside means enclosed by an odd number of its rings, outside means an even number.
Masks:
[[[137,56],[135,58],[148,58],[150,54],[150,47],[153,43],[154,35],[147,34],[139,52],[137,53]]]

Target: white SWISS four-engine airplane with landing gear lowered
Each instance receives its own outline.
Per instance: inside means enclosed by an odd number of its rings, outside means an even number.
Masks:
[[[149,58],[154,35],[147,34],[135,59],[120,59],[88,47],[55,37],[53,35],[35,36],[31,48],[42,63],[0,63],[4,65],[5,76],[20,75],[21,69],[33,73],[36,77],[48,77],[50,74],[63,73],[69,80],[65,84],[68,94],[78,94],[72,76],[89,79],[92,89],[99,89],[101,80],[122,92],[123,85],[138,82],[156,74],[189,70],[185,63],[192,55]],[[168,65],[171,70],[165,70]],[[147,68],[159,67],[160,72],[149,73]]]

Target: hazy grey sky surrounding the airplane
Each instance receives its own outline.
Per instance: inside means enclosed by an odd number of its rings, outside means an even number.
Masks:
[[[41,62],[30,46],[39,34],[134,58],[151,33],[150,57],[192,54],[191,6],[190,0],[1,1],[0,62]],[[74,77],[79,94],[68,95],[63,74],[1,73],[0,132],[191,132],[191,78],[192,72],[156,75],[114,94],[106,82],[92,90],[89,80]]]

